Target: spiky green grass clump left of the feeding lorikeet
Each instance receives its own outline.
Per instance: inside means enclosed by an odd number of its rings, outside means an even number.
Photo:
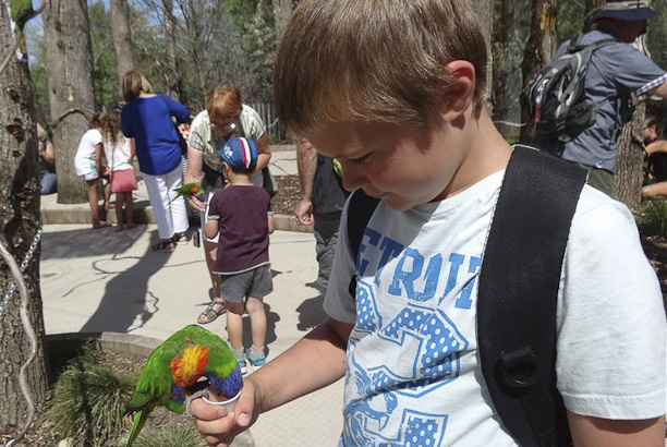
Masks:
[[[56,383],[47,418],[59,439],[71,438],[76,446],[102,447],[125,427],[125,403],[134,385],[134,376],[113,373],[104,353],[87,345]]]

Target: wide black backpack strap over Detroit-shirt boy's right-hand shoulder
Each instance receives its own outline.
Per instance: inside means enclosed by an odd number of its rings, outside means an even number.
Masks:
[[[523,447],[565,446],[556,389],[556,304],[583,169],[517,145],[480,271],[482,372],[496,410]]]

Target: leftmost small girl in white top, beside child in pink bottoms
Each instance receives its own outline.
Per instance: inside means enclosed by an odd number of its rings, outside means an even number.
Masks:
[[[88,123],[88,130],[83,134],[74,156],[74,170],[76,176],[85,180],[88,189],[88,204],[90,205],[90,217],[93,229],[106,228],[111,225],[99,216],[98,182],[102,176],[102,135],[100,130],[101,116],[95,113]],[[105,194],[105,208],[107,203]]]

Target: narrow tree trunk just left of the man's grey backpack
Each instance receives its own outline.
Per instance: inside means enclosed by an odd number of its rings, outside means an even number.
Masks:
[[[551,60],[556,52],[556,1],[533,0],[533,15],[531,21],[531,35],[525,44],[521,72],[523,87],[521,88],[521,141],[533,141],[533,126],[531,113],[525,101],[525,94],[537,74]]]

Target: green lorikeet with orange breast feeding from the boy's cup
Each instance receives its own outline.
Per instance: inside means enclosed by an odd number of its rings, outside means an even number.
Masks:
[[[201,377],[228,398],[241,390],[241,370],[229,345],[202,326],[190,325],[174,333],[146,360],[126,407],[129,414],[134,413],[134,421],[125,447],[134,443],[156,406],[182,414],[185,399],[202,388]]]

